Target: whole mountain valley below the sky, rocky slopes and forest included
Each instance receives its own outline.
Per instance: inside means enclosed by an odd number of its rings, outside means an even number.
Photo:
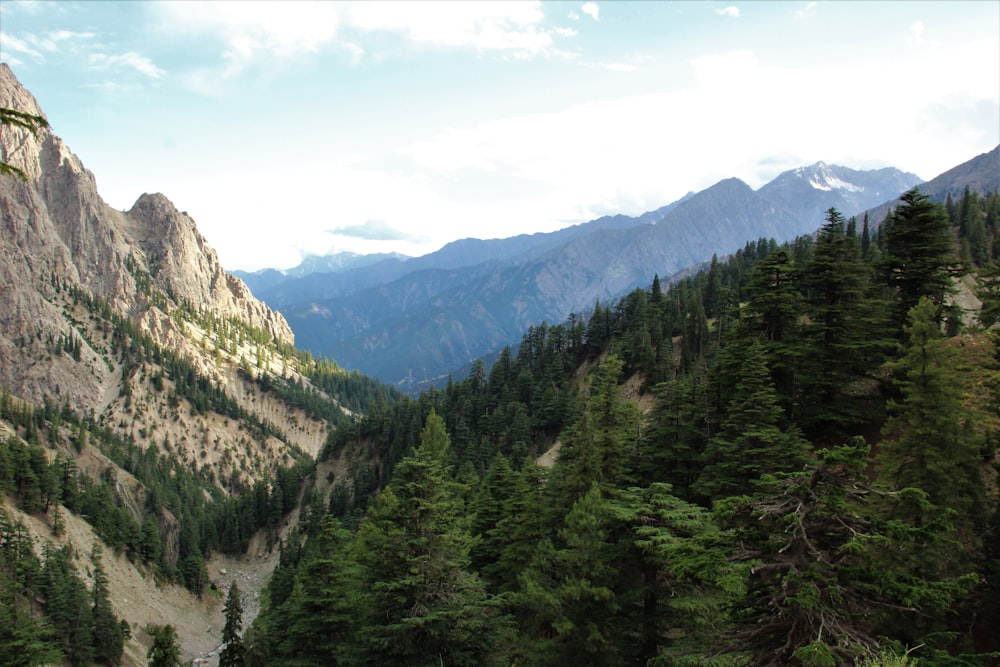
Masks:
[[[0,107],[43,117],[6,65]],[[250,286],[51,130],[0,147],[4,655],[1000,651],[1000,147]]]

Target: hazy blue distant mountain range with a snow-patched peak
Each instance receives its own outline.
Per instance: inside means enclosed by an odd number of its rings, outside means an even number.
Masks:
[[[656,274],[672,276],[748,240],[812,233],[831,207],[860,213],[919,182],[897,169],[817,163],[757,191],[720,181],[638,217],[465,239],[423,257],[335,272],[239,275],[285,315],[302,347],[405,388],[516,343],[530,325],[587,315],[595,302],[647,287]]]

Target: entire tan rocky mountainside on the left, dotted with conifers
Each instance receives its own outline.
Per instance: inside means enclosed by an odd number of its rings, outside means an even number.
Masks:
[[[163,195],[108,206],[2,63],[0,112],[0,664],[145,664],[174,624],[198,658],[213,559],[268,553],[396,394],[296,350]]]

